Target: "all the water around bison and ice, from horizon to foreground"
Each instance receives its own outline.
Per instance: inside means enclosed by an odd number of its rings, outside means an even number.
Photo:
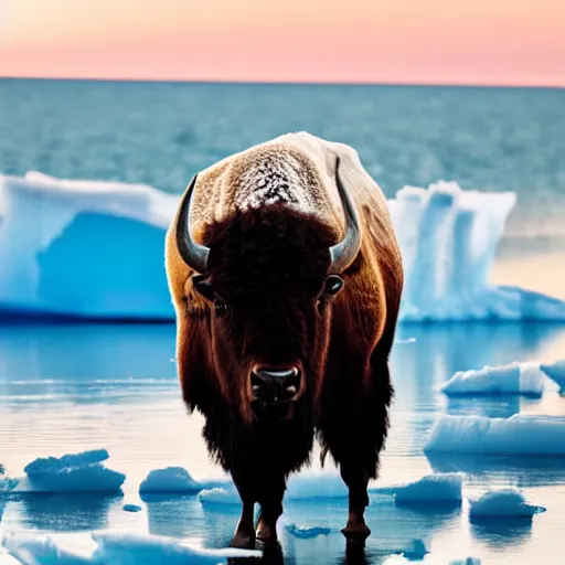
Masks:
[[[292,130],[355,147],[388,196],[405,184],[427,186],[438,179],[514,191],[516,207],[492,278],[565,298],[565,90],[0,81],[2,173],[39,170],[180,193],[200,168]],[[448,401],[438,392],[456,371],[564,359],[565,326],[403,326],[397,338],[396,397],[379,484],[461,470],[466,495],[519,487],[547,511],[532,524],[477,525],[469,523],[466,505],[401,510],[373,498],[373,535],[364,555],[351,555],[339,533],[345,501],[295,502],[281,523],[285,562],[405,563],[393,557],[422,539],[430,552],[424,563],[475,555],[481,565],[559,564],[564,461],[430,460],[422,448],[445,412],[565,415],[565,398],[555,393]],[[0,526],[132,529],[226,545],[237,508],[203,507],[195,497],[140,503],[137,495],[154,468],[181,465],[196,479],[223,477],[207,458],[202,418],[189,417],[182,405],[173,358],[173,324],[0,324],[0,463],[17,476],[36,457],[106,448],[108,465],[127,475],[122,498],[0,501]],[[125,512],[126,502],[140,503],[142,511]],[[284,527],[291,522],[332,533],[298,540]]]

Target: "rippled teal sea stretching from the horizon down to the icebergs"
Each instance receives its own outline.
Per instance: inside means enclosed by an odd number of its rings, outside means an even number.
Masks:
[[[515,191],[502,256],[563,257],[565,89],[0,79],[3,173],[178,193],[199,169],[296,130],[353,146],[388,196],[439,179]]]

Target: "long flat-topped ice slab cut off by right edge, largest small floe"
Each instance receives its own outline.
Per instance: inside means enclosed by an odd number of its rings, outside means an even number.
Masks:
[[[435,422],[425,452],[565,456],[565,417],[452,416]]]

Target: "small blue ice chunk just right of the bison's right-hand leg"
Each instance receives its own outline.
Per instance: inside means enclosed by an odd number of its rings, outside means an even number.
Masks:
[[[433,473],[396,489],[397,504],[460,503],[463,475],[457,472]]]

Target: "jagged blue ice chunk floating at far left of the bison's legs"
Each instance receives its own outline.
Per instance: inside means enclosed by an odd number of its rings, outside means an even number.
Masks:
[[[63,457],[38,458],[24,468],[25,478],[17,479],[13,492],[105,492],[121,490],[126,476],[108,469],[103,461],[106,449],[70,454]]]

